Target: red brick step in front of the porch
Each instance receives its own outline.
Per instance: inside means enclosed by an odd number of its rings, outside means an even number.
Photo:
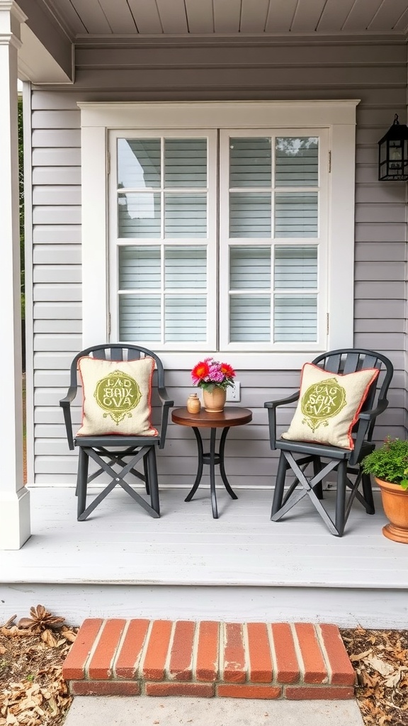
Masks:
[[[354,698],[338,627],[87,619],[62,674],[74,696]]]

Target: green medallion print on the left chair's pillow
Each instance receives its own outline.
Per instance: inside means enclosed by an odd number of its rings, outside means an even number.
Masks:
[[[142,393],[134,378],[114,370],[112,375],[98,381],[94,396],[98,406],[106,412],[104,417],[111,416],[118,425],[126,415],[131,416],[130,412],[136,408]]]

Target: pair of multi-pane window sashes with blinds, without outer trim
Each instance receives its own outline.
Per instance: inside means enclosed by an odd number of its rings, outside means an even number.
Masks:
[[[215,132],[118,134],[116,150],[121,340],[170,350],[213,350],[217,335],[226,350],[317,343],[319,135],[221,130],[219,184]]]

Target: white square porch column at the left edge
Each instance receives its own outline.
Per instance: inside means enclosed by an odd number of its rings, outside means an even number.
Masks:
[[[30,537],[30,492],[23,486],[17,49],[25,15],[0,0],[0,549]]]

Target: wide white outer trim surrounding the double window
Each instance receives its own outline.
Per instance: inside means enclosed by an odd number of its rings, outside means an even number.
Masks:
[[[108,220],[109,131],[128,129],[327,129],[328,176],[327,337],[318,350],[230,351],[246,370],[298,369],[317,352],[351,347],[354,335],[354,179],[356,105],[346,101],[81,102],[83,346],[109,340]],[[239,123],[237,123],[239,120]],[[327,159],[327,165],[329,158]],[[205,355],[217,351],[204,351]],[[166,367],[189,369],[197,351],[160,351]]]

